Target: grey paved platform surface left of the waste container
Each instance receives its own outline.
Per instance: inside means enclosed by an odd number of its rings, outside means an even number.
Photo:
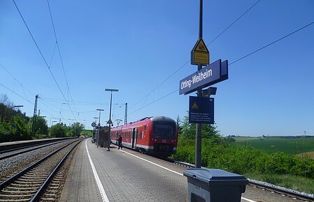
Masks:
[[[187,201],[184,167],[125,148],[107,151],[86,141],[73,158],[60,201]],[[105,193],[98,187],[87,150]]]

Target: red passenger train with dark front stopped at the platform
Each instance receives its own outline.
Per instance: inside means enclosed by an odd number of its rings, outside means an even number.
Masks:
[[[165,116],[145,117],[128,125],[113,127],[111,140],[117,143],[119,134],[122,145],[142,153],[167,157],[177,152],[177,124]]]

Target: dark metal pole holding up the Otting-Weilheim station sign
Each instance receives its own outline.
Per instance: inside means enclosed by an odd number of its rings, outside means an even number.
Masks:
[[[203,36],[203,0],[200,0],[200,31],[199,39]],[[197,65],[197,70],[202,70],[202,65]],[[202,88],[197,89],[197,97],[202,97]],[[195,139],[195,168],[200,168],[202,153],[202,124],[196,123],[196,139]]]

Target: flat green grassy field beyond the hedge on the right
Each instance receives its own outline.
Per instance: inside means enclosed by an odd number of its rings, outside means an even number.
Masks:
[[[314,152],[314,137],[233,137],[238,144],[253,146],[267,153],[301,153]]]

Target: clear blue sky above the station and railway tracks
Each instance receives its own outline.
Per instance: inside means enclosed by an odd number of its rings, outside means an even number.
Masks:
[[[209,44],[256,2],[204,0],[204,42]],[[91,128],[99,116],[96,109],[105,109],[103,125],[110,108],[105,88],[119,89],[113,93],[114,123],[124,120],[126,102],[128,122],[187,115],[188,96],[195,93],[176,90],[180,79],[197,70],[189,60],[198,38],[198,0],[50,0],[66,77],[47,1],[15,3],[0,1],[0,94],[24,105],[27,116],[33,115],[38,94],[40,116],[49,125],[61,118],[67,125]],[[314,24],[237,61],[314,22],[313,10],[313,0],[259,1],[207,46],[211,62],[232,63],[229,79],[214,85],[220,134],[314,134]]]

